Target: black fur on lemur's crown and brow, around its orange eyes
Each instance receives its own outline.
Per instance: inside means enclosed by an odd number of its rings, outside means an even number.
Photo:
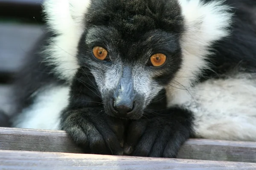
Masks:
[[[156,79],[162,85],[167,84],[180,68],[182,59],[178,40],[184,28],[180,7],[175,0],[161,3],[157,0],[98,0],[88,9],[85,25],[86,31],[79,44],[80,65],[87,64],[87,54],[91,53],[93,46],[99,45],[113,48],[113,62],[115,57],[121,57],[129,65],[138,62],[144,65],[149,59],[149,50],[151,55],[168,55],[162,67],[148,67],[156,72],[160,69],[162,74]],[[87,39],[90,43],[84,43]]]

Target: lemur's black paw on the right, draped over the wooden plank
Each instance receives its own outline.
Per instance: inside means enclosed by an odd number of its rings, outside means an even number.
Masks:
[[[189,130],[179,122],[165,117],[141,119],[129,126],[124,153],[132,156],[175,158],[181,144],[188,138]]]

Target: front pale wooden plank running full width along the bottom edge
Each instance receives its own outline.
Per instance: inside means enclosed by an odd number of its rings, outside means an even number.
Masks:
[[[255,163],[0,150],[8,170],[255,170]]]

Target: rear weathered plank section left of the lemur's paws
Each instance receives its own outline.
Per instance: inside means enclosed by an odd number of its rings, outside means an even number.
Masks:
[[[61,130],[0,127],[0,149],[82,153]]]

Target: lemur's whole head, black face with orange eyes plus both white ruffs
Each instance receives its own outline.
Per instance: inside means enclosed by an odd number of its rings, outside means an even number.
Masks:
[[[47,59],[66,79],[89,68],[106,113],[139,119],[162,89],[170,97],[195,82],[209,45],[227,35],[227,6],[201,1],[47,0],[49,26],[59,34]]]

